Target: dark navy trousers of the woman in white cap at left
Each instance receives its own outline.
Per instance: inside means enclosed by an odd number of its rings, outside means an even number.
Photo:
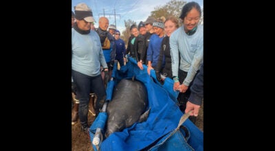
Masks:
[[[88,127],[88,112],[89,112],[89,94],[94,92],[97,95],[95,104],[96,115],[99,113],[99,109],[104,104],[104,97],[106,96],[106,90],[102,81],[101,75],[89,76],[78,71],[72,70],[72,78],[76,84],[76,96],[79,100],[78,115],[80,124],[86,128]]]

